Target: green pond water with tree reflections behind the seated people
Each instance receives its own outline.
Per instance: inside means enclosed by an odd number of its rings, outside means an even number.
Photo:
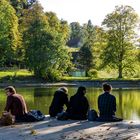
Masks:
[[[53,93],[57,87],[53,88],[17,88],[17,92],[22,94],[26,100],[28,110],[39,109],[44,114],[48,114],[48,108],[53,98]],[[69,87],[69,97],[75,94],[77,87]],[[102,89],[87,88],[87,98],[90,107],[98,111],[97,99]],[[140,90],[137,89],[114,89],[113,95],[117,100],[117,116],[124,119],[140,120]],[[4,110],[6,95],[0,89],[0,113]]]

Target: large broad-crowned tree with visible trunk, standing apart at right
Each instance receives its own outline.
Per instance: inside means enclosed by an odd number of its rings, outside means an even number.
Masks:
[[[108,45],[105,48],[102,66],[118,69],[119,78],[123,71],[133,68],[133,39],[138,15],[130,6],[116,6],[115,10],[106,16],[103,25],[108,30]]]

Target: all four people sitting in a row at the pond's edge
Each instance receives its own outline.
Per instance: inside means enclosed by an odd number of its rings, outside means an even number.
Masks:
[[[111,95],[111,85],[103,84],[104,93],[98,97],[99,115],[97,121],[121,121],[121,118],[115,117],[116,98]],[[27,114],[27,107],[22,95],[18,94],[13,86],[5,88],[7,101],[5,111],[15,116],[16,121],[30,120]],[[50,117],[58,119],[86,120],[90,109],[88,100],[85,96],[86,88],[80,86],[75,95],[68,100],[68,89],[60,87],[55,93],[52,103],[49,107]],[[64,111],[66,105],[66,111]]]

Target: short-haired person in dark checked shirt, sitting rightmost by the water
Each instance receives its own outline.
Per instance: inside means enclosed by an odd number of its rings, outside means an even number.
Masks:
[[[111,95],[112,86],[104,83],[104,93],[98,97],[99,118],[97,121],[122,121],[123,119],[115,117],[116,97]]]

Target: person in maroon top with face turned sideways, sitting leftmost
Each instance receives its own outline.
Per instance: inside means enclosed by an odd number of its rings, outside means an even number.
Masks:
[[[22,95],[16,93],[13,86],[5,88],[7,101],[5,111],[15,116],[15,119],[21,119],[27,113],[27,107]]]

